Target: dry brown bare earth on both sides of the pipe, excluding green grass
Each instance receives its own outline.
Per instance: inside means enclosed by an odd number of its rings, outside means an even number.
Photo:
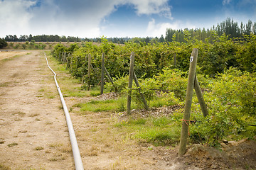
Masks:
[[[75,169],[65,115],[43,52],[15,55],[20,56],[0,62],[0,169]],[[61,77],[70,76],[57,74],[61,89]],[[177,147],[154,147],[113,128],[116,113],[74,107],[90,99],[65,97],[85,169],[256,169],[255,140],[228,142],[221,150],[193,145],[178,157]]]

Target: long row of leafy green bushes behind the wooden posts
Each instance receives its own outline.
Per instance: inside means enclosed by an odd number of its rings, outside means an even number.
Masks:
[[[191,142],[218,145],[218,141],[238,140],[256,135],[250,124],[255,123],[256,113],[256,36],[244,35],[241,39],[229,39],[227,35],[213,37],[206,42],[187,37],[186,43],[170,42],[146,45],[127,43],[114,45],[102,39],[100,45],[86,42],[83,47],[55,45],[53,57],[65,63],[74,77],[82,79],[84,86],[97,86],[100,82],[102,53],[105,67],[114,79],[114,86],[105,84],[107,91],[117,89],[121,101],[119,108],[107,111],[124,111],[122,96],[127,95],[129,55],[135,52],[134,72],[141,92],[150,107],[179,106],[171,115],[172,127],[180,125],[188,77],[190,54],[193,47],[199,49],[197,77],[208,106],[209,115],[204,118],[196,98],[193,98],[190,127]],[[92,72],[88,79],[88,55],[92,56]],[[161,93],[156,93],[161,91]],[[139,92],[134,89],[132,98],[137,108],[142,108]],[[112,101],[106,101],[111,103]],[[86,109],[87,104],[80,103]],[[100,103],[100,105],[103,105]],[[107,108],[107,107],[106,107]],[[168,135],[167,135],[167,139]],[[170,136],[171,139],[171,136]]]

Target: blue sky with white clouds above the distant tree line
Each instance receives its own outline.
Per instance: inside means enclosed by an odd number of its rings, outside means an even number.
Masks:
[[[228,17],[256,22],[256,0],[0,0],[0,38],[160,38],[166,28],[210,29]]]

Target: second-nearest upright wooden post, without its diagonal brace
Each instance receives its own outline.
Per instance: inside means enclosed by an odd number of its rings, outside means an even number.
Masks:
[[[131,53],[131,57],[130,57],[128,96],[127,96],[127,115],[131,114],[133,72],[134,72],[134,52]]]

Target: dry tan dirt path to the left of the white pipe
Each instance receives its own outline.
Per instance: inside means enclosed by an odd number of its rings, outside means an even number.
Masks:
[[[42,53],[21,55],[0,65],[0,164],[74,169],[52,73]],[[46,90],[49,96],[43,96]]]

